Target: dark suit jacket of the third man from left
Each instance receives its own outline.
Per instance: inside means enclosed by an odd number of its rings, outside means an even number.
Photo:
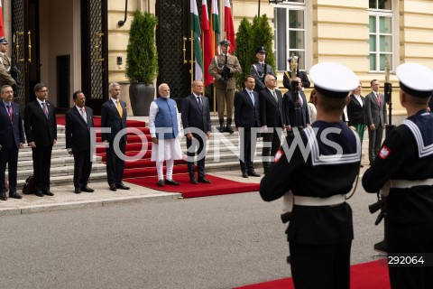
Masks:
[[[72,107],[66,112],[66,148],[72,152],[83,152],[90,149],[90,128],[93,124],[93,109],[85,107],[88,122],[81,117],[77,107]]]

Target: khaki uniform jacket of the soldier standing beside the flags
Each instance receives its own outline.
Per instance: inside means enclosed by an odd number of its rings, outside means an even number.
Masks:
[[[224,56],[224,54],[219,54],[215,56],[212,62],[210,62],[209,74],[214,77],[214,87],[217,89],[235,89],[235,76],[242,73],[241,64],[239,64],[239,61],[237,60],[237,57],[235,57],[235,55],[228,54],[227,62],[228,67],[230,68],[230,73],[232,73],[232,77],[228,80],[227,86],[224,84],[223,81],[221,81],[222,79],[220,74],[222,73],[223,68],[226,65],[226,57]]]

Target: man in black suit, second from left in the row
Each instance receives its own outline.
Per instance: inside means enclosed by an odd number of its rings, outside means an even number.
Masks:
[[[48,88],[43,83],[34,86],[36,99],[24,110],[24,131],[32,147],[34,194],[53,196],[50,191],[52,146],[57,142],[57,121],[54,105],[48,100]]]

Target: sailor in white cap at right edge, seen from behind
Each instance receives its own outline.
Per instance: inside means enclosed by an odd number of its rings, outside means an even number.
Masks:
[[[396,73],[409,117],[387,135],[363,186],[389,194],[388,252],[423,256],[433,253],[433,114],[427,110],[433,70],[404,63]],[[389,271],[393,289],[433,288],[433,267],[390,266]]]

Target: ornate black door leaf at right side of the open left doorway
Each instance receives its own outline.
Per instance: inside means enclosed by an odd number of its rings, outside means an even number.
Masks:
[[[81,0],[81,85],[95,115],[108,99],[107,0]]]

